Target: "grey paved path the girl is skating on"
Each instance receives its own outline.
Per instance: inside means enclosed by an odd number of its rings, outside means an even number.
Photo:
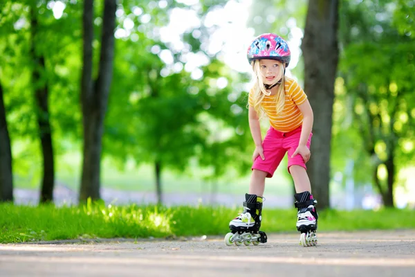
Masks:
[[[415,276],[415,231],[297,234],[227,247],[223,238],[0,244],[0,276]],[[260,273],[260,274],[259,274]]]

